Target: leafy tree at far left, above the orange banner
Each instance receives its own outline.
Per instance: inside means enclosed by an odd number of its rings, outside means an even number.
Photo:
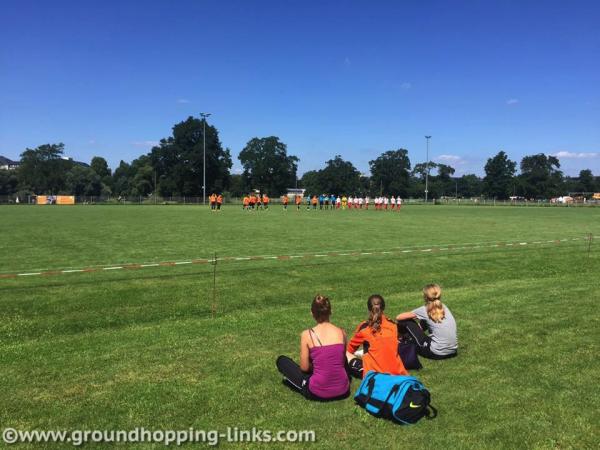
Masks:
[[[19,187],[34,194],[57,194],[64,191],[67,172],[73,162],[63,159],[64,144],[44,144],[21,154],[18,170]]]

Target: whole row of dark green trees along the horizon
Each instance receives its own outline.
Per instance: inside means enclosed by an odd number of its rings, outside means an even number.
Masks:
[[[241,174],[232,174],[231,151],[223,148],[218,130],[203,120],[188,117],[172,128],[149,153],[131,163],[121,161],[111,170],[101,156],[89,165],[64,158],[64,145],[44,144],[26,149],[16,170],[0,170],[0,195],[69,194],[77,196],[163,197],[201,196],[206,142],[206,191],[241,197],[252,189],[278,196],[288,188],[309,193],[349,195],[424,196],[429,198],[480,197],[507,199],[519,196],[542,199],[568,192],[600,191],[600,177],[581,170],[578,177],[564,176],[560,161],[543,153],[525,156],[518,165],[504,151],[487,160],[485,176],[455,177],[450,165],[419,162],[412,166],[408,150],[389,150],[369,161],[369,175],[340,155],[320,170],[298,178],[296,156],[276,136],[253,138],[240,152]],[[429,176],[427,177],[427,173]]]

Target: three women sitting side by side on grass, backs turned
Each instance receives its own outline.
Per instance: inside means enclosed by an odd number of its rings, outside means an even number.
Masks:
[[[351,376],[363,378],[369,371],[408,375],[408,363],[400,354],[403,340],[410,341],[424,358],[456,356],[456,322],[442,303],[440,286],[425,286],[423,299],[424,305],[392,320],[384,314],[383,297],[371,295],[367,320],[348,340],[344,330],[330,321],[330,300],[317,295],[311,305],[316,325],[300,336],[300,364],[287,356],[277,358],[284,383],[311,400],[337,400],[350,395]]]

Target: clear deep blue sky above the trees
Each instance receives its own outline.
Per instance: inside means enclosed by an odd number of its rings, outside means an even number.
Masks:
[[[279,136],[300,172],[407,148],[458,174],[557,154],[600,175],[597,1],[3,1],[0,154],[64,142],[111,167],[213,115],[237,154]]]

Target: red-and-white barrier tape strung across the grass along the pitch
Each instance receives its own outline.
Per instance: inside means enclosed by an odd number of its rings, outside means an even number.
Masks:
[[[370,251],[370,252],[349,252],[349,253],[339,253],[339,252],[329,252],[326,254],[318,253],[318,254],[304,254],[304,255],[278,255],[278,256],[226,256],[222,258],[216,258],[216,261],[265,261],[265,260],[289,260],[296,258],[325,258],[327,256],[370,256],[370,255],[390,255],[390,254],[400,254],[400,253],[413,253],[413,252],[438,252],[438,251],[451,251],[451,250],[476,250],[481,248],[499,248],[499,247],[518,247],[518,246],[526,246],[526,245],[545,245],[545,244],[561,244],[563,242],[568,241],[577,241],[582,238],[571,238],[571,239],[553,239],[549,241],[532,241],[532,242],[500,242],[489,245],[482,245],[481,243],[473,243],[466,244],[460,247],[454,245],[448,245],[447,247],[432,247],[432,248],[408,248],[405,250],[396,250],[396,251]],[[587,238],[586,238],[587,239]],[[70,274],[70,273],[90,273],[90,272],[98,272],[98,271],[111,271],[111,270],[135,270],[135,269],[143,269],[148,267],[173,267],[173,266],[182,266],[182,265],[190,265],[190,264],[207,264],[209,262],[213,262],[213,259],[193,259],[187,261],[163,261],[160,263],[147,263],[147,264],[124,264],[121,266],[107,266],[107,267],[88,267],[84,269],[62,269],[62,270],[46,270],[41,272],[23,272],[23,273],[6,273],[0,274],[0,279],[8,279],[8,278],[16,278],[16,277],[30,277],[30,276],[53,276],[53,275],[61,275],[61,274]]]

